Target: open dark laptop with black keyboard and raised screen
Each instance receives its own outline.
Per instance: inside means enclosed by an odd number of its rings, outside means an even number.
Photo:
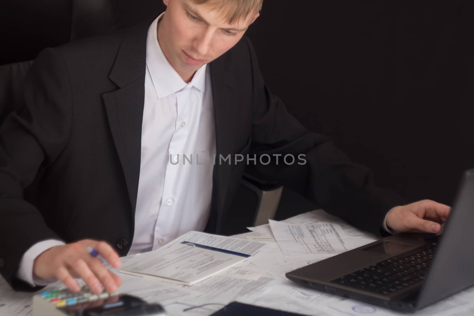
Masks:
[[[305,287],[413,312],[474,285],[474,169],[442,235],[392,235],[286,273]]]

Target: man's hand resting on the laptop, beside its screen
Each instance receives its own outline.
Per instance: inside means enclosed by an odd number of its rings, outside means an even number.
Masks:
[[[446,222],[451,208],[447,205],[422,200],[397,206],[387,215],[387,226],[397,233],[434,233]]]

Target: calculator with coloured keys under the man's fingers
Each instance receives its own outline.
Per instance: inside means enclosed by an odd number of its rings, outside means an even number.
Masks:
[[[33,297],[33,316],[165,316],[159,304],[118,292],[93,294],[87,286],[43,292]]]

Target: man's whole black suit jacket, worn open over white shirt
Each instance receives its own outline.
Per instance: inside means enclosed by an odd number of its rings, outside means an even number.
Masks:
[[[15,275],[23,253],[41,240],[99,239],[128,253],[150,23],[48,48],[32,65],[24,103],[0,133],[0,273],[13,287],[21,284]],[[265,86],[246,37],[210,63],[210,73],[218,155],[304,153],[305,165],[280,157],[278,165],[255,168],[374,233],[390,208],[405,203],[287,113]],[[207,231],[225,234],[232,225],[228,207],[245,165],[215,165]]]

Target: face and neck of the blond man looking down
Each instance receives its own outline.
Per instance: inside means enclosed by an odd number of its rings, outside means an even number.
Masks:
[[[168,8],[158,25],[158,40],[168,62],[183,79],[236,45],[258,17],[257,13],[230,25],[221,12],[207,4],[163,2]]]

